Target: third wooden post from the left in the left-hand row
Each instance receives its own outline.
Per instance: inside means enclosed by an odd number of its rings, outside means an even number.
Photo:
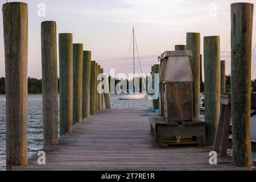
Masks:
[[[59,34],[59,126],[60,135],[73,126],[73,35]]]

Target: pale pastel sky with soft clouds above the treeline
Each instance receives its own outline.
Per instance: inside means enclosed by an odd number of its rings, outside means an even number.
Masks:
[[[6,0],[1,0],[5,3]],[[9,1],[10,2],[10,1]],[[83,43],[110,73],[132,73],[132,27],[135,27],[144,73],[157,64],[157,57],[186,44],[186,32],[203,36],[221,36],[221,52],[230,39],[230,4],[232,0],[28,0],[29,5],[29,67],[30,77],[41,78],[41,22],[55,20],[57,33],[73,33],[74,43]],[[38,16],[38,4],[46,6],[46,16]],[[256,3],[256,0],[251,0]],[[0,77],[5,76],[2,14],[0,14]],[[255,19],[255,17],[254,17]],[[255,26],[253,47],[256,43]],[[222,54],[222,53],[221,53]],[[256,54],[256,51],[255,51]],[[252,68],[256,65],[253,56]],[[230,73],[230,44],[222,54],[226,73]],[[138,67],[138,62],[137,62]],[[138,73],[139,69],[136,70]],[[253,73],[256,78],[256,71]]]

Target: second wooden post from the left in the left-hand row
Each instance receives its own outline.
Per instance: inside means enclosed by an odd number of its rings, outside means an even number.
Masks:
[[[43,147],[58,144],[58,73],[56,31],[56,22],[42,22]]]

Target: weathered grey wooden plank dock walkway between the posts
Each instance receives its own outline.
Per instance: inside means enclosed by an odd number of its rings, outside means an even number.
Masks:
[[[143,110],[101,110],[76,123],[73,133],[48,146],[46,165],[35,154],[26,167],[13,170],[244,170],[230,156],[209,164],[211,148],[156,148]]]

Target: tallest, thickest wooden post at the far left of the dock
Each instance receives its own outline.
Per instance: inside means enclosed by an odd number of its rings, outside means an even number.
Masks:
[[[27,165],[27,4],[3,4],[6,167]]]

